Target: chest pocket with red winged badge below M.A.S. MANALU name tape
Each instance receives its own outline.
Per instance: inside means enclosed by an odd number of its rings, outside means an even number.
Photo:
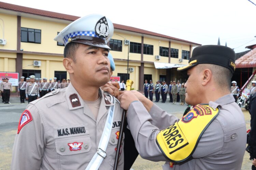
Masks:
[[[69,125],[54,128],[54,142],[60,163],[81,164],[89,163],[93,157],[90,152],[92,144],[86,125]]]

